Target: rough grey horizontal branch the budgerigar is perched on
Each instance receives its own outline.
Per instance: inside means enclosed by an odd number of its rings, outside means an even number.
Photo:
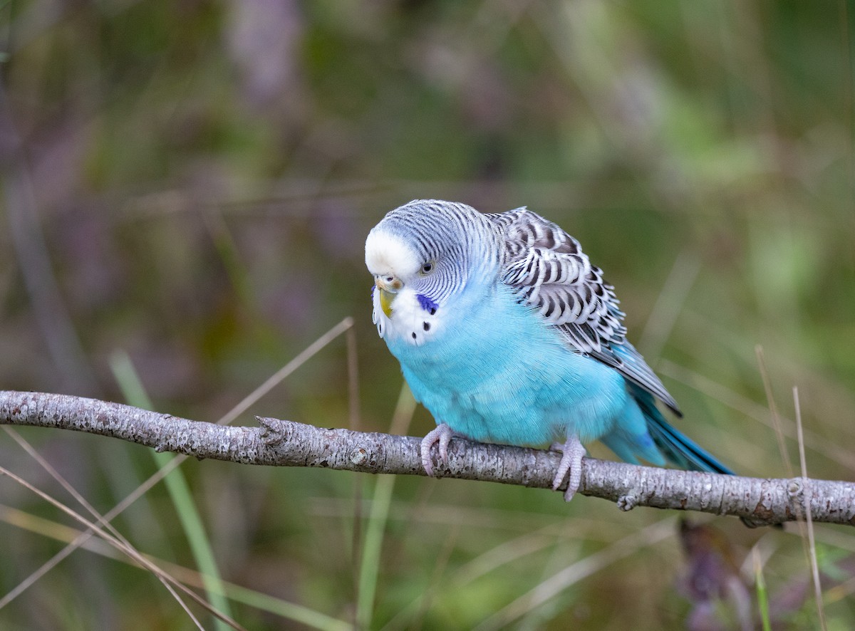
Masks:
[[[425,475],[421,439],[317,428],[257,417],[260,427],[232,427],[140,410],[92,398],[0,391],[0,424],[73,429],[197,458],[286,467],[323,467],[373,474]],[[453,439],[439,477],[551,488],[560,455]],[[563,490],[559,489],[559,490]],[[855,483],[758,479],[641,467],[585,458],[580,492],[635,506],[733,515],[753,525],[794,521],[811,502],[814,522],[855,526]]]

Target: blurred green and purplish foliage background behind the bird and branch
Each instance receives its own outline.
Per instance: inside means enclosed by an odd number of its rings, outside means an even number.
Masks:
[[[412,198],[528,205],[616,286],[679,428],[737,472],[792,475],[798,386],[809,472],[852,479],[853,26],[849,2],[0,3],[0,386],[124,401],[125,352],[153,409],[215,421],[352,315],[359,424],[386,431],[401,377],[371,325],[370,227]],[[238,422],[346,427],[345,349]],[[417,410],[408,431],[431,427]],[[156,469],[114,439],[21,434],[102,512]],[[0,463],[74,504],[5,433]],[[756,567],[782,628],[820,628],[798,534],[696,517],[713,571],[674,513],[181,472],[225,580],[330,616],[232,602],[246,628],[737,628],[735,597],[707,604],[692,573],[732,579],[756,622]],[[115,523],[196,567],[177,506],[158,485]],[[57,522],[78,527],[0,481],[0,597],[62,549]],[[855,539],[817,528],[817,546],[828,628],[852,628]],[[92,551],[0,609],[9,629],[191,626],[149,573]]]

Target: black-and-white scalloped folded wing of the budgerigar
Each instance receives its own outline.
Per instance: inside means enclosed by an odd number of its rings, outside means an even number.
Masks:
[[[614,287],[579,242],[526,208],[486,215],[504,239],[502,281],[561,334],[572,351],[616,369],[681,416],[674,398],[626,339]]]

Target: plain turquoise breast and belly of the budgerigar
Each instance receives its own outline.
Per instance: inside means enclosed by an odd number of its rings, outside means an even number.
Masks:
[[[569,351],[508,291],[442,316],[443,333],[424,345],[387,343],[416,398],[458,433],[506,445],[540,447],[572,434],[585,443],[634,406],[621,374]]]

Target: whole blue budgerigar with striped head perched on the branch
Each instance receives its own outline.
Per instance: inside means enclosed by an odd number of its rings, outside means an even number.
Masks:
[[[568,501],[596,439],[629,463],[730,473],[665,422],[654,399],[680,410],[626,339],[614,288],[551,221],[416,200],[371,230],[365,262],[377,331],[437,422],[428,475],[454,435],[563,445],[553,488],[569,473]]]

